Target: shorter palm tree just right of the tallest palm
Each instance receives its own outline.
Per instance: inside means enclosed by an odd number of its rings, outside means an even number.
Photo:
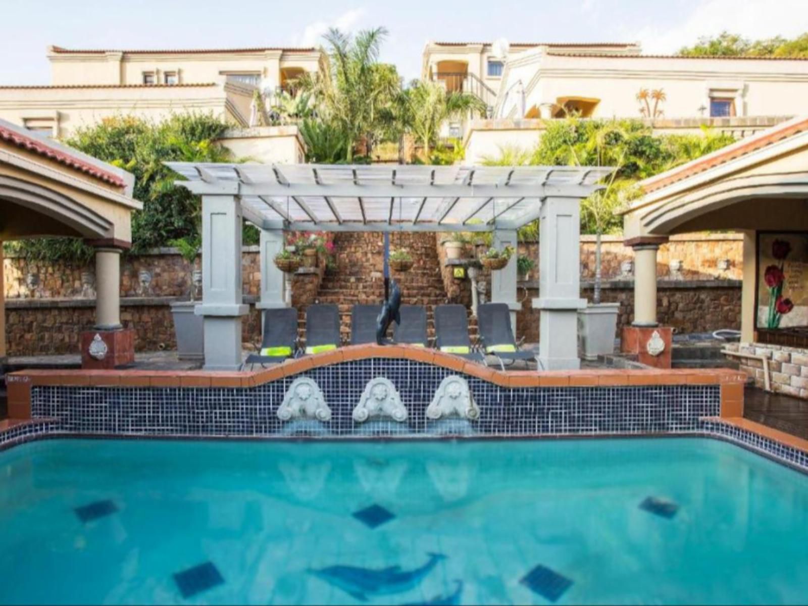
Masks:
[[[410,132],[423,145],[423,159],[429,160],[429,151],[437,141],[440,127],[446,120],[468,112],[485,112],[486,104],[475,95],[447,92],[439,82],[416,81],[410,85]]]

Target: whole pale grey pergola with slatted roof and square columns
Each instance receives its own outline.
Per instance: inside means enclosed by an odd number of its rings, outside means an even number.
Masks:
[[[606,167],[268,165],[168,162],[202,196],[206,368],[241,364],[242,220],[261,230],[259,308],[284,303],[282,273],[272,263],[284,230],[493,231],[496,246],[515,246],[516,229],[540,226],[539,361],[579,368],[579,201],[599,189]],[[491,299],[516,301],[516,259],[494,272]],[[406,301],[405,301],[406,302]]]

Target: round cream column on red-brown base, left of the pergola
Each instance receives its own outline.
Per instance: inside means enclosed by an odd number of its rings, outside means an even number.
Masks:
[[[120,242],[88,241],[95,247],[95,326],[81,335],[82,368],[128,366],[135,361],[132,328],[120,323]]]

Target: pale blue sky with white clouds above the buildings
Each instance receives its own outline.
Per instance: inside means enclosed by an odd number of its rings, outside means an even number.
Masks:
[[[309,46],[329,27],[384,26],[381,58],[410,79],[427,40],[639,42],[645,53],[673,53],[722,30],[751,38],[808,32],[808,0],[0,0],[0,15],[0,84],[48,84],[48,44]]]

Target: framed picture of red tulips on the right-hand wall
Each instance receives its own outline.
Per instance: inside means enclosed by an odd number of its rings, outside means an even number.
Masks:
[[[757,327],[808,326],[808,233],[758,233]]]

